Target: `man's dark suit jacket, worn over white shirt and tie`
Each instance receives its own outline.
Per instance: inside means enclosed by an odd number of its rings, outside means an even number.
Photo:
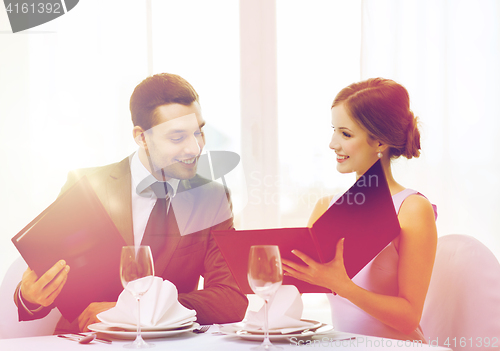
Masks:
[[[62,192],[83,175],[87,176],[127,245],[133,245],[130,158],[103,167],[73,171]],[[210,234],[212,229],[233,228],[229,194],[217,182],[195,176],[181,180],[171,206],[178,226],[168,229],[166,245],[155,259],[155,274],[175,284],[179,302],[196,310],[198,323],[241,321],[248,301]],[[197,290],[200,276],[204,277],[204,289]],[[16,292],[16,299],[17,296]],[[30,315],[19,303],[17,305],[19,320],[42,318],[50,311],[48,307]],[[69,325],[61,319],[56,332],[74,331],[75,322]]]

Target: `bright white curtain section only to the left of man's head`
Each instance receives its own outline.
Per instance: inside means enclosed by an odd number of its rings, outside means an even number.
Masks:
[[[0,5],[0,276],[10,239],[59,194],[68,171],[135,150],[128,99],[147,75],[146,8],[80,1],[16,34]],[[97,10],[98,9],[98,10]]]

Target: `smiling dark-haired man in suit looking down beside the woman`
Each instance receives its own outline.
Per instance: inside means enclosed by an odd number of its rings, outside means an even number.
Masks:
[[[176,285],[179,302],[196,310],[197,321],[230,323],[243,319],[248,301],[210,234],[233,228],[233,217],[226,190],[196,175],[205,144],[198,100],[194,88],[177,75],[146,78],[130,98],[138,151],[115,164],[71,172],[63,192],[86,175],[127,245],[151,246],[156,275]],[[158,185],[163,195],[157,194]],[[150,217],[160,198],[168,228],[155,236]],[[47,315],[68,274],[63,260],[40,279],[28,268],[15,294],[19,319]],[[200,275],[204,289],[196,290]],[[56,332],[88,330],[115,301],[91,303],[73,323],[61,319]]]

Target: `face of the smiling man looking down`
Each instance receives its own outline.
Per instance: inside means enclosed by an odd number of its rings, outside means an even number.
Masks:
[[[162,105],[154,113],[158,124],[143,133],[136,133],[138,127],[134,128],[136,137],[143,135],[138,142],[141,162],[161,181],[193,178],[205,146],[200,105]]]

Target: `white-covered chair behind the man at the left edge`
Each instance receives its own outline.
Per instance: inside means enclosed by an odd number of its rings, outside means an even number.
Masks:
[[[16,259],[9,267],[0,286],[0,339],[51,335],[61,317],[59,310],[54,308],[44,318],[34,321],[18,321],[13,296],[26,268],[26,262],[22,257]]]

